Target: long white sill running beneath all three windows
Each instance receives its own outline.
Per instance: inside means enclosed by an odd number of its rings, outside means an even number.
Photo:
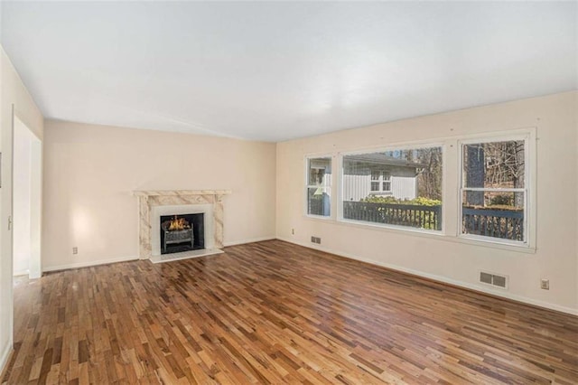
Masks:
[[[507,251],[513,251],[522,254],[536,254],[536,247],[530,247],[527,244],[507,244],[502,243],[499,241],[493,241],[492,239],[479,239],[475,238],[472,239],[466,236],[455,236],[444,234],[443,230],[423,230],[423,229],[414,229],[414,228],[404,228],[400,226],[383,226],[378,224],[371,224],[371,223],[363,223],[358,221],[348,221],[348,220],[336,220],[332,217],[322,217],[322,216],[314,216],[314,215],[305,215],[305,218],[312,221],[323,221],[325,223],[330,222],[331,224],[336,224],[338,226],[345,226],[349,228],[356,228],[360,230],[371,230],[371,231],[380,231],[380,232],[392,232],[399,235],[407,235],[407,236],[417,236],[417,237],[424,237],[429,239],[437,239],[446,242],[452,243],[461,243],[471,246],[479,246],[482,248],[489,248],[489,249],[501,249]]]

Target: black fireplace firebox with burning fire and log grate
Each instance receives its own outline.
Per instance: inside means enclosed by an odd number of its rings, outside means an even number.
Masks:
[[[204,213],[162,215],[161,254],[205,249]]]

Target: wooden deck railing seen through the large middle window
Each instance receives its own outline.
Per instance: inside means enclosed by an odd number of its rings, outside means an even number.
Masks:
[[[442,230],[442,206],[346,201],[343,219]]]

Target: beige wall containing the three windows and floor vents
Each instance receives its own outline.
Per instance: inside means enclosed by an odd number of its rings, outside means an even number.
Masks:
[[[278,143],[277,238],[314,247],[311,236],[321,237],[322,249],[343,256],[578,314],[576,99],[575,92],[563,93]],[[538,137],[536,252],[457,241],[451,236],[458,227],[457,142],[448,138],[524,127],[536,127]],[[340,152],[415,141],[450,144],[445,148],[443,195],[447,235],[424,236],[304,216],[306,155],[332,155],[337,172]],[[336,188],[334,184],[333,212]],[[480,270],[508,275],[508,290],[478,284]],[[540,278],[550,279],[549,291],[540,289]]]

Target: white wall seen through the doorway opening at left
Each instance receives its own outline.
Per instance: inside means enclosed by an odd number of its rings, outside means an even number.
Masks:
[[[14,124],[14,276],[28,274],[31,248],[32,134]]]

